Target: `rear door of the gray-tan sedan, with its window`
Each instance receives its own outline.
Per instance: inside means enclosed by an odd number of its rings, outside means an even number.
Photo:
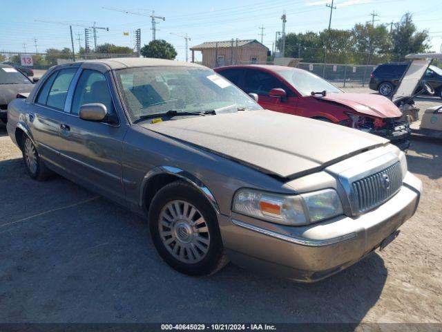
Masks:
[[[68,89],[77,69],[65,68],[52,73],[37,93],[32,107],[35,111],[26,114],[41,158],[59,168],[62,168],[59,155],[61,123]]]

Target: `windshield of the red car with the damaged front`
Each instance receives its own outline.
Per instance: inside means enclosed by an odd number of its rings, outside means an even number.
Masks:
[[[302,95],[310,95],[311,91],[327,91],[327,93],[343,92],[333,84],[319,76],[309,73],[308,71],[278,71],[278,73],[296,90],[302,93]]]

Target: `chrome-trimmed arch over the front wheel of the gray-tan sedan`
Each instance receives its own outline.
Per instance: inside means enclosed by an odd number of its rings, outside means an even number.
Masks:
[[[206,199],[211,203],[213,208],[215,209],[217,214],[220,214],[220,208],[218,207],[218,203],[215,200],[215,196],[211,193],[208,187],[200,181],[199,178],[191,174],[190,172],[184,171],[183,169],[173,167],[173,166],[157,166],[153,167],[143,178],[142,185],[140,187],[140,207],[143,205],[143,196],[144,196],[144,188],[148,185],[148,182],[158,174],[171,174],[182,178],[184,181],[187,181],[195,188],[197,188],[201,194],[203,194]]]

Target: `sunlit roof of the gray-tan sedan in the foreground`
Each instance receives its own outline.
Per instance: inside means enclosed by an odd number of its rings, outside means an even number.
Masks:
[[[93,59],[77,62],[70,62],[68,64],[61,64],[55,66],[56,68],[77,67],[95,69],[98,71],[106,72],[124,68],[136,68],[136,67],[148,67],[148,66],[186,66],[186,67],[201,67],[199,64],[193,64],[191,62],[179,62],[166,59],[153,59],[148,57],[115,57],[110,59]],[[55,68],[54,67],[54,68]]]

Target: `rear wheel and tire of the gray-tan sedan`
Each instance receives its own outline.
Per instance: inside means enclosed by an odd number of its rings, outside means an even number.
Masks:
[[[21,139],[21,151],[23,154],[23,161],[25,163],[26,172],[29,176],[36,181],[44,181],[48,178],[52,172],[46,167],[43,160],[41,160],[37,148],[26,133],[23,133]]]

